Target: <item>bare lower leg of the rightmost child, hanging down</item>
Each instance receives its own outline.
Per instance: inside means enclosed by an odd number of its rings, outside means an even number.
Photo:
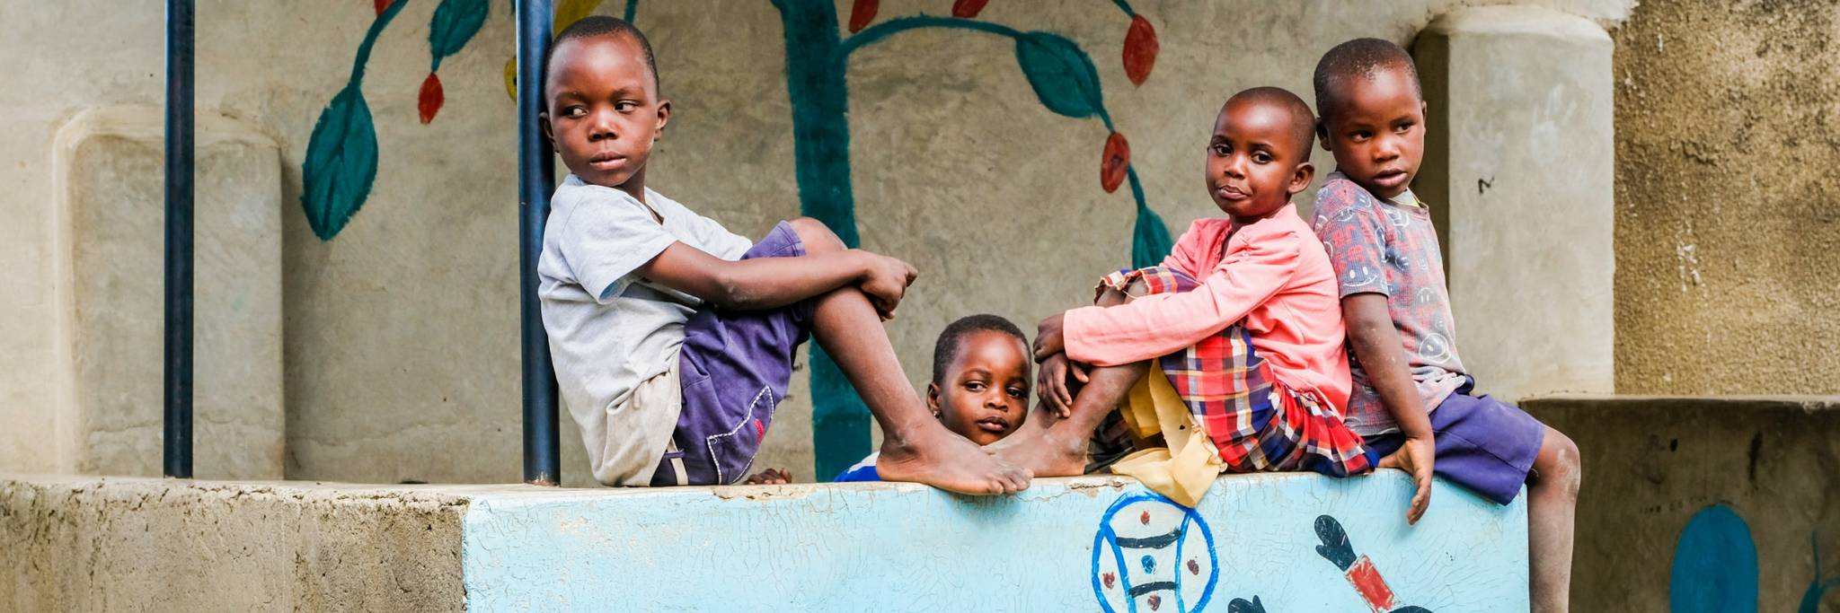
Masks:
[[[1527,561],[1536,613],[1570,609],[1571,534],[1581,479],[1579,445],[1546,427],[1546,442],[1527,479]]]

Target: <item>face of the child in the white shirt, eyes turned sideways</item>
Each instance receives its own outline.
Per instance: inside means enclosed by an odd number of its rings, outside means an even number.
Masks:
[[[581,180],[644,199],[646,160],[670,120],[633,37],[563,40],[550,57],[543,131]],[[635,180],[637,179],[637,180]]]

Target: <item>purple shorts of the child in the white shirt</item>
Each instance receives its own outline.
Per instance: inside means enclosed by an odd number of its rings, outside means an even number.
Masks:
[[[799,258],[804,243],[780,221],[742,260]],[[765,311],[703,306],[684,322],[679,364],[683,412],[653,486],[730,484],[747,477],[773,409],[786,398],[793,355],[810,337],[815,302]],[[679,479],[679,466],[681,477]]]

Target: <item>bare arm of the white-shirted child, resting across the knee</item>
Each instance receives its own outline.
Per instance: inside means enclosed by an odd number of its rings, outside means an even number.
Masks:
[[[883,318],[894,317],[918,271],[905,261],[859,249],[802,258],[729,261],[673,243],[638,267],[638,274],[716,306],[756,311],[788,306],[843,285],[861,285]]]

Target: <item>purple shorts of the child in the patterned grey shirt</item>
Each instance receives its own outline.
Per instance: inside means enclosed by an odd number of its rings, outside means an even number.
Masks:
[[[1512,503],[1527,482],[1527,469],[1546,442],[1546,425],[1518,407],[1489,396],[1470,396],[1476,381],[1466,381],[1432,411],[1437,462],[1432,471],[1496,501]],[[1400,433],[1367,438],[1380,457],[1406,444]]]

